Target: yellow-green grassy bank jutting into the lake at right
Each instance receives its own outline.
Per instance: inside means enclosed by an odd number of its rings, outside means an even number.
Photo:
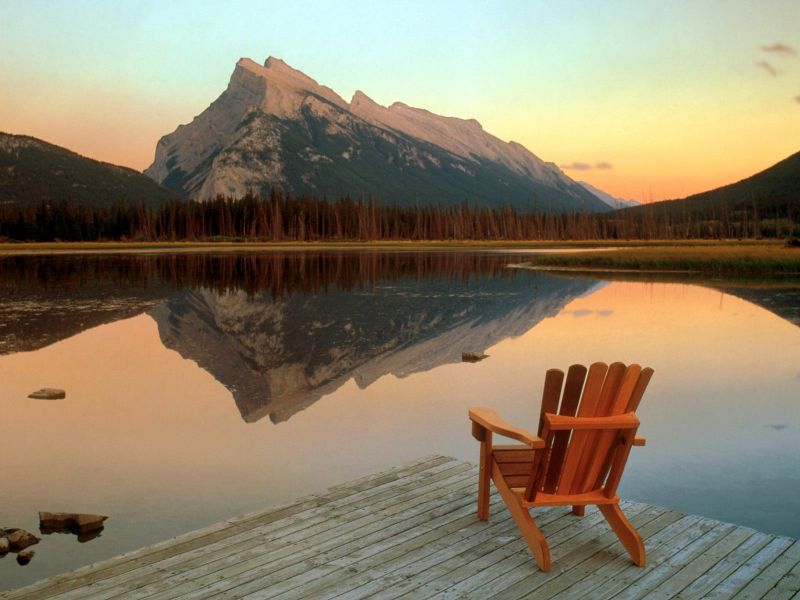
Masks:
[[[712,276],[800,275],[800,248],[783,243],[669,244],[614,251],[542,254],[534,268],[582,271],[702,273]]]

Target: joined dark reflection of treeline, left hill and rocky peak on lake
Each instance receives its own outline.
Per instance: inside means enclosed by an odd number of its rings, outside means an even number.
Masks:
[[[225,385],[245,421],[277,423],[350,378],[363,388],[521,335],[598,285],[521,274],[506,268],[510,260],[455,252],[12,257],[3,262],[10,302],[0,304],[0,352],[147,311],[164,345]]]

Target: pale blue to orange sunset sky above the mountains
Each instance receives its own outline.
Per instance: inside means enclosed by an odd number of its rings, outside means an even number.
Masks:
[[[800,150],[800,0],[0,0],[0,131],[143,170],[270,55],[346,99],[475,118],[622,198]]]

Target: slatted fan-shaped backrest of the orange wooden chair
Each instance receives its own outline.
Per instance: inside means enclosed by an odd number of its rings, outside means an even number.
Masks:
[[[536,453],[525,498],[597,490],[613,497],[636,435],[633,413],[652,375],[622,363],[572,365],[566,381],[563,371],[547,371],[538,430],[545,448]]]

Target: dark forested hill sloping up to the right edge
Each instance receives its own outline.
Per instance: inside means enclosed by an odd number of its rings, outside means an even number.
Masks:
[[[664,200],[619,212],[631,214],[653,211],[660,215],[719,218],[725,212],[752,214],[754,209],[759,218],[772,215],[797,217],[800,213],[800,152],[737,183],[694,194],[683,200]]]

